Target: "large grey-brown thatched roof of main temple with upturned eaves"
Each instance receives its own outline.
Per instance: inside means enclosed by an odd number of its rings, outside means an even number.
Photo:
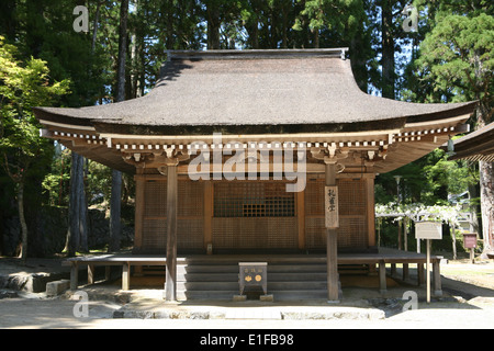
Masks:
[[[419,104],[362,92],[341,49],[170,52],[145,97],[81,109],[37,107],[40,120],[124,134],[349,132],[471,113],[473,103]]]

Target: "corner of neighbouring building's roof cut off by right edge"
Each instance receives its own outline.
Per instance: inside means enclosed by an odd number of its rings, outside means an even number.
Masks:
[[[452,160],[494,162],[494,123],[453,140],[456,155]]]

